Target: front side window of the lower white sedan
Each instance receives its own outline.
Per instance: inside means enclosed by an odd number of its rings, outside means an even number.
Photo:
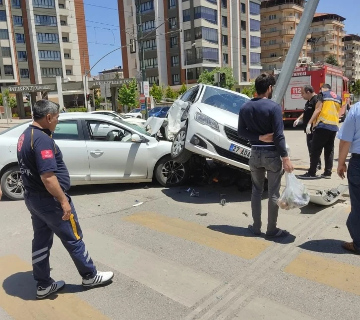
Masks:
[[[86,120],[91,140],[131,142],[132,132],[100,120]]]

